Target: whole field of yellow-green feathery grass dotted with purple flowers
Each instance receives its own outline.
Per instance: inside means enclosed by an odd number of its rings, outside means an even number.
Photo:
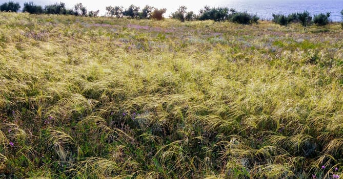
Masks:
[[[0,13],[0,178],[343,178],[343,30]]]

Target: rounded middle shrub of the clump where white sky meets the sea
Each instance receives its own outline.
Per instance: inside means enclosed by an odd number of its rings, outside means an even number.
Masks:
[[[234,9],[229,10],[228,8],[210,8],[209,6],[205,6],[204,9],[200,10],[198,19],[223,21],[228,19],[230,11],[231,13],[235,12]]]

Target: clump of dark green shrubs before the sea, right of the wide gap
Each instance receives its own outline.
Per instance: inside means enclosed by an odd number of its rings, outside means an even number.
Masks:
[[[343,13],[343,10],[342,10],[342,13]],[[292,13],[289,15],[284,15],[284,14],[272,14],[272,15],[273,15],[273,22],[281,26],[287,26],[290,23],[301,23],[302,26],[306,27],[313,23],[318,26],[325,26],[329,24],[330,14],[331,14],[330,12],[327,12],[326,14],[319,13],[312,17],[308,11],[304,11],[302,13],[298,12],[298,13]]]

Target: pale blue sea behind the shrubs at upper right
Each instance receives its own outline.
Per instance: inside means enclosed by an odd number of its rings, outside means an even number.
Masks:
[[[272,19],[273,13],[290,14],[307,10],[311,15],[331,12],[332,21],[341,21],[340,11],[343,9],[343,0],[230,0],[223,4],[237,11],[257,14],[260,19],[266,20]]]

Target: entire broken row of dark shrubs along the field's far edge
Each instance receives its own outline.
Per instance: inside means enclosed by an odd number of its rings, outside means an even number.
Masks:
[[[3,12],[17,12],[21,6],[19,3],[8,2],[0,5],[0,11]],[[106,15],[114,16],[117,18],[129,17],[136,19],[163,19],[163,14],[166,13],[167,9],[156,9],[152,6],[146,5],[142,10],[140,7],[131,5],[129,8],[124,9],[122,6],[108,6],[106,7]],[[23,12],[28,12],[31,14],[64,14],[64,15],[82,15],[82,16],[98,16],[99,10],[97,11],[87,11],[82,3],[78,3],[73,9],[67,9],[64,3],[55,3],[53,5],[47,5],[44,8],[39,5],[35,5],[33,2],[24,3]],[[343,10],[340,12],[342,17],[341,26],[343,28]],[[313,17],[308,11],[302,13],[292,13],[289,15],[284,14],[272,14],[273,22],[282,26],[287,26],[290,23],[300,23],[302,26],[306,27],[310,24],[316,24],[318,26],[325,26],[330,22],[330,12],[319,13]],[[229,9],[226,7],[210,8],[205,6],[199,11],[199,14],[195,14],[193,11],[187,12],[187,7],[180,6],[176,12],[170,15],[170,18],[178,19],[180,21],[191,21],[191,20],[214,20],[214,21],[224,21],[230,20],[234,23],[239,24],[253,24],[257,23],[259,17],[247,12],[237,12],[234,9]]]

